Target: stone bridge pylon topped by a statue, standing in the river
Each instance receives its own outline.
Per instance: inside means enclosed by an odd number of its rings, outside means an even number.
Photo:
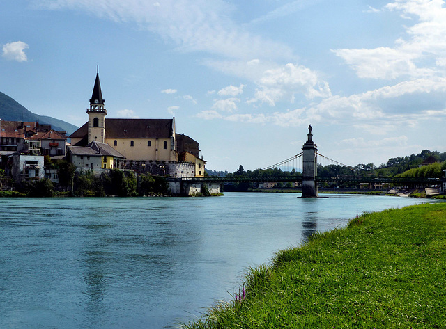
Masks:
[[[317,198],[318,149],[312,139],[312,125],[308,127],[307,136],[307,142],[302,145],[302,198]]]

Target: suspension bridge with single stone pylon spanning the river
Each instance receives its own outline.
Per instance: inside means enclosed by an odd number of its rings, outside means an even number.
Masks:
[[[302,185],[302,197],[316,197],[318,195],[318,185],[322,183],[343,184],[343,183],[367,183],[367,184],[394,184],[397,186],[426,186],[432,182],[428,178],[408,178],[408,177],[372,177],[355,175],[355,170],[351,166],[335,161],[318,153],[316,144],[312,141],[312,126],[309,126],[307,142],[302,145],[302,152],[295,154],[286,160],[279,161],[271,166],[263,168],[263,171],[279,171],[280,175],[259,175],[256,177],[245,177],[243,175],[233,175],[231,177],[185,177],[183,182],[191,184],[223,184],[223,183],[262,183],[262,182],[296,182]],[[341,166],[348,168],[351,175],[331,175],[324,177],[317,175],[318,165],[320,166]],[[345,171],[345,170],[344,170]],[[288,174],[288,175],[286,175]]]

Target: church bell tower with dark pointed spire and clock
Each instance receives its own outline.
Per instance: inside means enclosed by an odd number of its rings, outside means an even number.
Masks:
[[[107,110],[104,107],[105,100],[102,98],[99,82],[99,65],[96,71],[95,86],[90,99],[90,107],[86,109],[89,114],[89,143],[97,141],[105,143],[105,115]]]

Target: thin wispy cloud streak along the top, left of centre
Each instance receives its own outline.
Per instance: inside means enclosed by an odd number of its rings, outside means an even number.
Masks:
[[[36,0],[52,10],[86,10],[115,22],[136,22],[142,29],[173,41],[183,51],[206,51],[230,58],[291,58],[289,47],[233,22],[235,5],[222,0],[164,0],[157,6],[141,0]],[[187,13],[187,15],[185,15]]]

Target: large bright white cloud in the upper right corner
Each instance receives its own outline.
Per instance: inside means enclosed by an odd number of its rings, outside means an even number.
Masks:
[[[406,39],[394,47],[337,49],[360,78],[397,79],[443,76],[446,65],[446,8],[443,0],[397,0],[388,10],[399,10],[405,18],[417,18],[406,26]],[[415,20],[412,20],[415,22]]]

